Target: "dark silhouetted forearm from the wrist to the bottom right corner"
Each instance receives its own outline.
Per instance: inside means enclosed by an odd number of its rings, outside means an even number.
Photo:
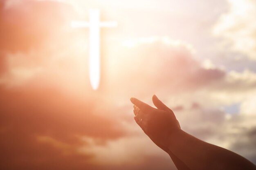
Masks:
[[[256,169],[240,155],[201,141],[182,130],[172,135],[168,149],[191,170]]]

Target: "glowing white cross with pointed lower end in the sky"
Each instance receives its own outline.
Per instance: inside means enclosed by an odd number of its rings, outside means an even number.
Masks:
[[[90,49],[89,49],[89,73],[92,88],[99,87],[100,80],[100,27],[115,27],[117,22],[100,22],[100,12],[98,9],[90,9],[89,22],[74,21],[73,27],[90,28]]]

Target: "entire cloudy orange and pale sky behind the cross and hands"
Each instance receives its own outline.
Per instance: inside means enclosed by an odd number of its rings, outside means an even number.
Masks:
[[[99,9],[101,80],[89,80]],[[1,0],[1,169],[175,170],[133,119],[155,94],[182,130],[256,163],[254,0]]]

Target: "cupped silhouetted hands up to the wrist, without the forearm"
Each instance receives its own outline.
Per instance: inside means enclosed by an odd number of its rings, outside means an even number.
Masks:
[[[130,99],[134,104],[134,119],[157,146],[168,152],[168,141],[173,140],[173,134],[180,130],[180,124],[173,111],[156,95],[153,95],[152,100],[157,109],[136,98]]]

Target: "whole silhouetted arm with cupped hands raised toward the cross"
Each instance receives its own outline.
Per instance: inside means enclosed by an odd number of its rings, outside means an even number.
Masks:
[[[240,155],[201,141],[180,128],[173,111],[155,95],[153,108],[136,98],[135,121],[150,139],[168,152],[179,170],[255,170],[256,166]]]

